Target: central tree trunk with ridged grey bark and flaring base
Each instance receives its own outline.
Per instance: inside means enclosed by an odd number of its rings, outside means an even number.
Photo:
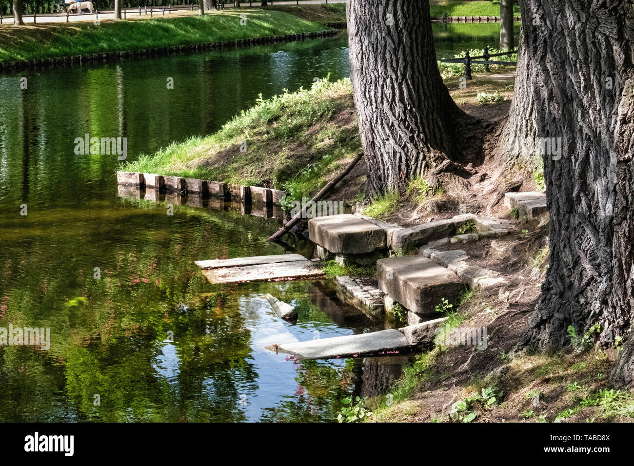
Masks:
[[[475,121],[451,99],[437,68],[429,1],[349,0],[351,80],[368,190],[403,190],[474,161]]]

